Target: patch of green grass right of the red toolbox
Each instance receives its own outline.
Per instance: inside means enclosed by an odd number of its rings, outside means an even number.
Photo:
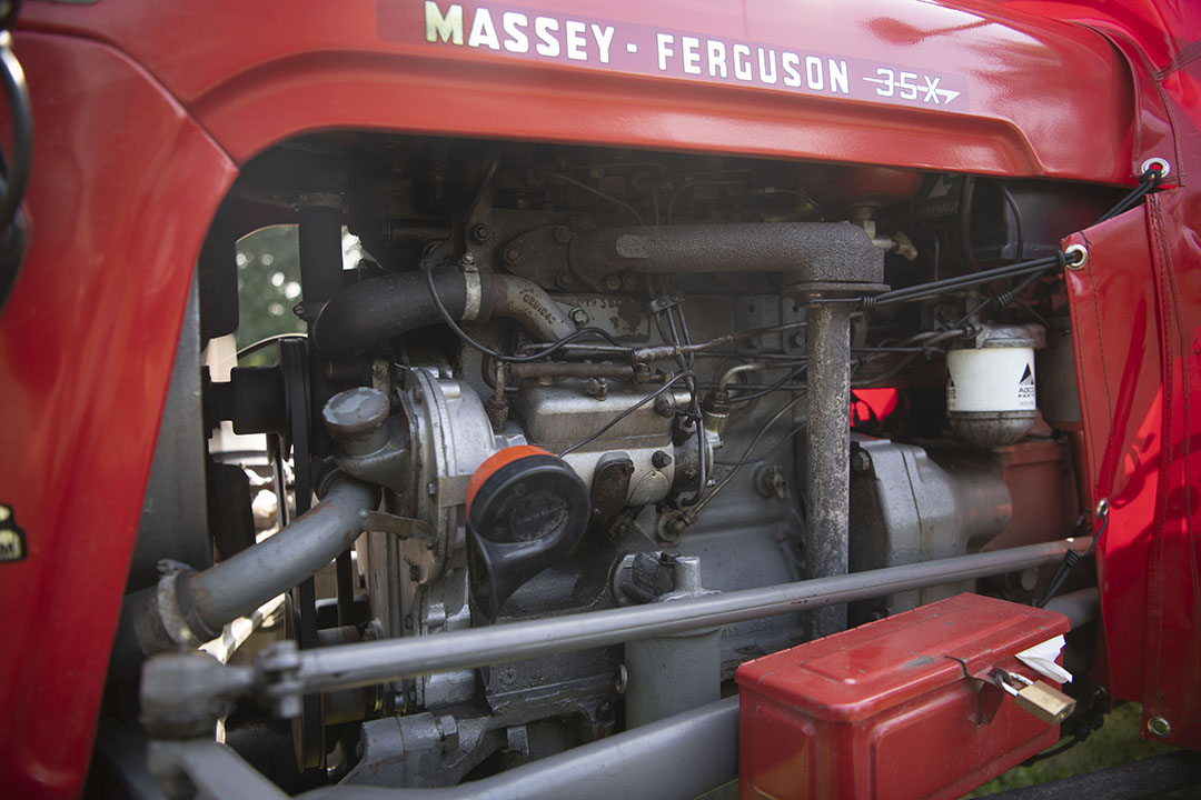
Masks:
[[[1130,762],[1151,758],[1152,756],[1163,756],[1179,750],[1169,745],[1142,741],[1140,739],[1141,729],[1141,706],[1134,703],[1124,704],[1115,709],[1105,718],[1105,724],[1099,730],[1094,730],[1083,742],[1030,766],[1014,768],[964,796],[980,798],[996,792],[1005,792],[1006,789],[1058,781],[1072,775],[1093,772],[1106,766],[1129,764]],[[1182,792],[1173,792],[1166,796],[1181,800],[1184,798],[1201,798],[1201,789],[1184,789]]]

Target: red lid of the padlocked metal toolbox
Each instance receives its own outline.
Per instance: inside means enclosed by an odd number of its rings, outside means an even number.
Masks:
[[[742,691],[856,722],[993,666],[1070,628],[1063,614],[962,594],[739,667]]]

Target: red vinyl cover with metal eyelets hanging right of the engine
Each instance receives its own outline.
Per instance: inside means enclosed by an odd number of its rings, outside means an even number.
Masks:
[[[1069,271],[1115,697],[1201,746],[1201,194],[1176,190],[1072,236]]]

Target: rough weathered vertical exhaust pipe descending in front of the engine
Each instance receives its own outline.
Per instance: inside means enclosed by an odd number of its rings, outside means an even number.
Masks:
[[[808,307],[808,437],[806,441],[808,566],[811,578],[847,573],[850,501],[850,306]],[[847,606],[812,613],[811,634],[847,627]]]

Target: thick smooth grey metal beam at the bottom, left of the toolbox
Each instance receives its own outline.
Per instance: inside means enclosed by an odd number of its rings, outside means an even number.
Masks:
[[[442,789],[340,786],[306,800],[686,800],[739,776],[739,698],[729,697],[532,764]]]

